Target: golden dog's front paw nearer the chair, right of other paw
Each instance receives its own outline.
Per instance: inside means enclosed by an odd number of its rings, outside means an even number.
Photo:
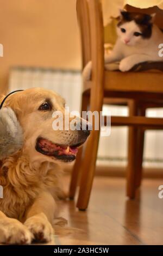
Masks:
[[[50,242],[53,239],[54,229],[44,214],[37,214],[24,223],[34,235],[35,242]]]

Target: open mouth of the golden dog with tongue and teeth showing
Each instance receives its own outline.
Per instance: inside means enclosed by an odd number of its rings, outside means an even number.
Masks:
[[[53,156],[65,162],[75,160],[78,153],[77,145],[71,147],[68,145],[58,145],[44,138],[37,139],[36,150],[43,155]]]

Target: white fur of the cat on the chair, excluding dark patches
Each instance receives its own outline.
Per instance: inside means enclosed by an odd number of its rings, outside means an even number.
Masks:
[[[121,28],[126,29],[126,33],[122,33]],[[148,39],[135,36],[134,32],[141,33],[134,20],[117,27],[118,38],[112,52],[105,56],[105,64],[120,62],[119,69],[125,72],[141,62],[163,61],[163,58],[159,57],[159,45],[163,43],[161,30],[153,24],[152,35]],[[87,63],[83,70],[84,80],[90,79],[91,68],[92,63]]]

